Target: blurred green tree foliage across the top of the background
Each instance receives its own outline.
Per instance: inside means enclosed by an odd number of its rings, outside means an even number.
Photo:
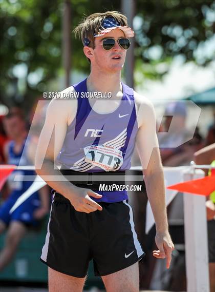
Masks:
[[[71,0],[71,28],[84,15],[120,11],[120,5],[120,0]],[[28,108],[50,81],[63,74],[63,1],[0,0],[0,7],[0,101],[11,105],[18,95]],[[212,40],[214,7],[207,0],[136,0],[136,70],[157,78],[166,70],[157,71],[155,65],[168,64],[178,54],[185,62],[207,65],[212,53],[200,57],[197,48]],[[74,34],[71,42],[72,68],[89,72],[81,42]]]

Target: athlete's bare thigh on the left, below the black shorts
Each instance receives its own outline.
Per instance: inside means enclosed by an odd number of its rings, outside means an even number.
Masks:
[[[49,270],[49,292],[82,292],[85,281],[84,278],[76,278],[62,274],[52,268]]]

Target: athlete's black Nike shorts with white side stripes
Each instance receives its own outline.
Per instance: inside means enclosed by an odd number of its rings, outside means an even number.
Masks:
[[[93,259],[95,276],[105,276],[143,258],[132,208],[126,201],[100,202],[103,210],[88,214],[76,211],[59,193],[53,197],[46,243],[40,258],[49,267],[83,278]]]

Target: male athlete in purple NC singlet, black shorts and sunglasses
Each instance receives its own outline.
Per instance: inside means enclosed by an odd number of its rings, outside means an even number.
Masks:
[[[106,291],[136,292],[138,261],[144,251],[123,189],[135,143],[156,222],[158,250],[153,255],[166,258],[168,268],[174,249],[155,113],[148,100],[121,82],[129,38],[134,36],[126,17],[115,11],[95,13],[75,32],[81,37],[91,72],[86,80],[62,91],[61,99],[51,101],[40,134],[35,165],[53,188],[41,261],[49,266],[51,292],[82,291],[91,259]],[[98,95],[81,98],[86,92]],[[104,98],[107,92],[112,93],[110,99]],[[61,164],[60,170],[56,163]],[[116,188],[99,191],[101,182]]]

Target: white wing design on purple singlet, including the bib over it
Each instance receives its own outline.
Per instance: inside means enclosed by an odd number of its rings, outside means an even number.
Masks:
[[[70,169],[87,171],[96,166],[106,171],[115,171],[119,169],[123,164],[122,151],[120,151],[120,148],[125,145],[126,138],[127,128],[117,135],[117,137],[102,145],[88,145],[84,147],[85,156],[76,161]]]

